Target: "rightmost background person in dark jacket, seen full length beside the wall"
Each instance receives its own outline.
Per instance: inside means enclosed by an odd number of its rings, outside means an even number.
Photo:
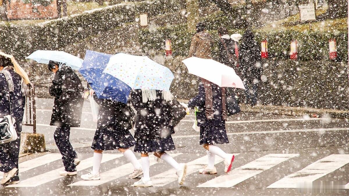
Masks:
[[[247,29],[241,40],[239,59],[246,88],[246,103],[251,105],[257,104],[258,83],[262,72],[260,53],[253,32]]]

